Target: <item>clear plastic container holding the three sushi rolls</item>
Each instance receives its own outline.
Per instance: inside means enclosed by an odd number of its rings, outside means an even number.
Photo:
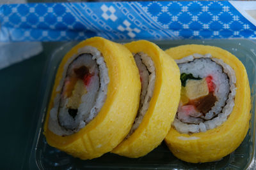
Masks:
[[[175,40],[155,41],[163,50],[172,46],[184,44],[203,44],[220,46],[233,53],[246,67],[252,93],[252,116],[250,129],[243,143],[230,155],[217,162],[204,164],[191,164],[177,159],[168,150],[164,142],[145,157],[129,159],[113,153],[106,153],[97,159],[80,160],[56,148],[47,145],[43,134],[45,111],[51,97],[58,64],[65,53],[77,42],[63,43],[50,57],[45,70],[42,84],[42,101],[40,109],[36,112],[38,123],[36,125],[35,139],[29,156],[30,169],[255,169],[255,85],[256,85],[256,43],[246,39],[214,39],[214,40]],[[50,54],[49,54],[50,55]]]

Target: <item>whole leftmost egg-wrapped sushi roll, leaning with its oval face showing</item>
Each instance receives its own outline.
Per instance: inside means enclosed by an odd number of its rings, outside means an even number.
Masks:
[[[58,68],[44,125],[47,143],[80,159],[110,152],[132,127],[140,89],[125,46],[99,37],[82,41]]]

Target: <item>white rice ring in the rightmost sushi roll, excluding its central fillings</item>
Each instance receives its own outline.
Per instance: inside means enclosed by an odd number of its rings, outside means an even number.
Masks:
[[[204,59],[202,59],[204,58]],[[208,59],[205,59],[208,58]],[[215,59],[211,54],[193,54],[183,59],[176,60],[181,73],[191,73],[195,77],[205,78],[212,75],[212,81],[216,85],[214,94],[217,101],[211,110],[201,116],[200,124],[186,124],[177,117],[173,126],[181,133],[205,132],[223,124],[233,110],[236,96],[236,74],[234,70],[221,59]],[[229,81],[228,81],[229,79]]]

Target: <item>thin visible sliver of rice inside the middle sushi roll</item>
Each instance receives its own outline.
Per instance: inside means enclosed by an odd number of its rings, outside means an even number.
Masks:
[[[139,127],[140,123],[142,122],[143,117],[148,110],[150,100],[153,96],[156,79],[154,62],[150,57],[148,57],[147,54],[143,52],[136,53],[134,55],[134,60],[140,73],[140,106],[134,120],[134,124],[132,125],[131,131],[126,138],[129,138],[129,136],[131,136],[131,134]]]

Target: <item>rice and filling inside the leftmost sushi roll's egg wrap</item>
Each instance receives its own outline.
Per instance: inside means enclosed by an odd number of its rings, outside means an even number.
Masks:
[[[59,136],[74,134],[88,124],[102,108],[108,90],[108,68],[100,52],[85,46],[68,59],[54,106],[49,129]]]

